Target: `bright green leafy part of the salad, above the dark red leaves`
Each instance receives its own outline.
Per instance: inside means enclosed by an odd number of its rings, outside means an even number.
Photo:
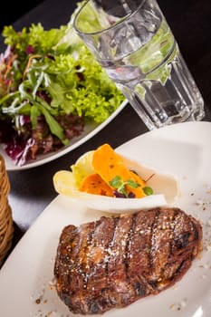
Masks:
[[[6,74],[10,85],[0,90],[0,118],[26,114],[35,128],[38,115],[43,114],[52,133],[64,143],[56,116],[73,113],[100,124],[125,100],[73,31],[72,16],[68,24],[51,30],[44,30],[42,24],[21,32],[11,25],[3,30],[5,44],[13,48],[13,62]],[[5,65],[0,66],[4,72]],[[41,93],[50,102],[43,101]]]

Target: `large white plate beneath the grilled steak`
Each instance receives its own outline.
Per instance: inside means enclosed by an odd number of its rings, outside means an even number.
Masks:
[[[124,155],[177,174],[182,196],[175,206],[200,219],[202,256],[175,286],[140,299],[108,317],[211,316],[211,123],[179,123],[131,139],[117,150]],[[0,271],[2,317],[73,317],[53,287],[53,264],[62,227],[101,216],[68,198],[56,197],[16,245]],[[107,214],[108,215],[108,214]],[[36,300],[40,300],[40,303]]]

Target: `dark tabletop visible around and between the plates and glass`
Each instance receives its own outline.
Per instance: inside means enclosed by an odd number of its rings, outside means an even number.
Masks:
[[[193,73],[205,100],[206,118],[211,120],[211,2],[209,0],[159,0],[168,24],[177,38],[177,43]],[[39,23],[50,29],[68,23],[76,1],[45,0],[14,23],[15,30]],[[0,38],[0,49],[5,48]],[[128,104],[120,114],[92,139],[60,159],[37,168],[8,172],[11,191],[9,202],[14,217],[14,246],[34,223],[45,207],[56,197],[53,189],[53,174],[59,169],[68,169],[82,153],[95,149],[104,142],[114,148],[139,134],[148,131],[136,112]],[[51,226],[51,224],[49,224]]]

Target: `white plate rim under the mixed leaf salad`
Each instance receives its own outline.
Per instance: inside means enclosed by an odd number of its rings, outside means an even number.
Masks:
[[[28,169],[28,168],[35,168],[39,165],[43,165],[45,163],[48,163],[52,161],[53,159],[58,159],[62,157],[62,155],[69,153],[72,151],[72,149],[78,148],[80,145],[82,145],[84,142],[86,142],[88,139],[91,139],[95,134],[97,134],[99,131],[101,131],[105,126],[107,126],[111,120],[113,120],[120,111],[126,106],[128,101],[123,101],[120,104],[120,107],[118,107],[117,110],[115,110],[110,117],[103,121],[101,124],[86,124],[84,127],[84,130],[82,134],[79,137],[74,137],[70,143],[63,147],[62,149],[59,149],[56,152],[47,153],[43,155],[38,155],[36,160],[31,160],[24,164],[23,166],[17,166],[14,164],[14,160],[10,159],[8,155],[5,153],[4,145],[0,145],[0,155],[2,155],[5,159],[5,167],[7,171],[12,170],[20,170],[20,169]]]

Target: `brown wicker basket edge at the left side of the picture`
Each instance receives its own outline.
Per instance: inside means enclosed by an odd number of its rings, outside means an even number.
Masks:
[[[8,203],[9,178],[5,170],[5,160],[0,155],[0,265],[8,253],[14,236],[12,210]]]

